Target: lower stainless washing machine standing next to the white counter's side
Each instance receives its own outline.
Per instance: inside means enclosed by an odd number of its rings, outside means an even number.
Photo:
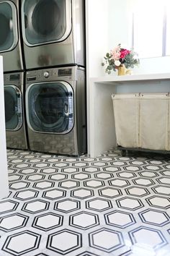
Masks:
[[[86,86],[81,67],[27,71],[26,116],[30,150],[86,153]]]

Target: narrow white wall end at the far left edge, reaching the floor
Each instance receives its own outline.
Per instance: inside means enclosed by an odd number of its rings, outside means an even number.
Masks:
[[[9,195],[8,172],[6,160],[6,133],[4,118],[4,79],[2,56],[0,56],[0,199]]]

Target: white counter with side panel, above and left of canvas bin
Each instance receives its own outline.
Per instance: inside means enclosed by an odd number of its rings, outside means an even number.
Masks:
[[[170,73],[92,77],[87,91],[88,154],[116,147],[112,93],[170,93]]]

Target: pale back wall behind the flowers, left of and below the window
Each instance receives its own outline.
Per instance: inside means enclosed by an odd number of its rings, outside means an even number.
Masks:
[[[129,48],[132,46],[132,4],[133,1],[131,0],[109,0],[108,29],[110,33],[108,34],[108,51],[117,46],[117,43],[122,43],[122,45]],[[135,49],[135,51],[138,52],[138,49]],[[169,73],[169,61],[170,56],[140,59],[140,67],[135,67],[133,74]]]

